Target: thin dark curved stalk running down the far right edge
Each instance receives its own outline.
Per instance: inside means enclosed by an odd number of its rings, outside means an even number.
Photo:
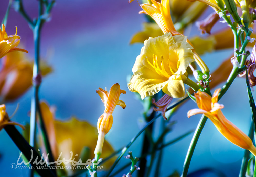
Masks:
[[[251,87],[250,87],[250,83],[249,83],[249,78],[248,78],[248,71],[246,71],[246,85],[247,85],[247,93],[248,93],[248,97],[249,97],[249,103],[250,103],[250,107],[251,107],[251,114],[252,114],[252,122],[253,122],[253,130],[254,130],[254,146],[256,146],[256,132],[255,132],[255,128],[256,128],[256,106],[254,103],[254,99],[252,96],[252,92],[251,92]],[[255,161],[254,161],[254,172],[253,172],[253,177],[256,177],[256,157],[255,157]]]

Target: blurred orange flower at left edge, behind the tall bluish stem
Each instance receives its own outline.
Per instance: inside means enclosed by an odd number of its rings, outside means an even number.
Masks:
[[[26,58],[23,52],[12,52],[1,59],[0,102],[12,101],[32,86],[33,61]],[[41,63],[40,69],[42,75],[52,71],[45,63]]]

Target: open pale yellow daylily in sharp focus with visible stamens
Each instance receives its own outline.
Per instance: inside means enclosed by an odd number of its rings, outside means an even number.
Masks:
[[[186,69],[195,61],[193,47],[186,40],[187,37],[171,33],[146,40],[132,68],[129,90],[138,92],[142,99],[161,89],[173,98],[183,97],[188,80]]]

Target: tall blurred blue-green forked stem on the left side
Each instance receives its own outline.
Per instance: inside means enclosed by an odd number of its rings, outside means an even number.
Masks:
[[[47,1],[45,1],[47,2]],[[53,162],[53,155],[50,148],[49,140],[47,137],[47,133],[45,130],[44,121],[42,119],[42,113],[40,110],[40,103],[39,103],[39,87],[41,83],[41,75],[40,75],[40,33],[42,25],[45,22],[45,19],[42,19],[41,16],[44,14],[44,1],[39,0],[38,1],[38,18],[34,22],[30,19],[30,17],[27,15],[23,8],[22,0],[17,0],[17,11],[25,18],[25,20],[28,22],[29,27],[33,31],[33,39],[34,39],[34,46],[35,46],[35,59],[34,59],[34,66],[33,66],[33,96],[31,98],[31,113],[30,113],[30,139],[29,144],[34,147],[36,142],[36,115],[39,115],[39,125],[40,130],[42,132],[43,141],[45,144],[46,152],[49,154],[48,158],[50,162]],[[51,1],[50,4],[47,2],[46,12],[49,13],[49,11],[52,8],[54,1]]]

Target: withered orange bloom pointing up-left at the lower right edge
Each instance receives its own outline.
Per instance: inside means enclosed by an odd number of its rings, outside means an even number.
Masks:
[[[202,91],[195,93],[194,96],[196,97],[199,109],[188,111],[188,117],[196,114],[204,114],[214,123],[217,130],[231,143],[249,150],[256,156],[256,148],[251,139],[223,115],[221,109],[224,108],[224,106],[218,103],[219,93],[220,89],[215,90],[212,97]]]

